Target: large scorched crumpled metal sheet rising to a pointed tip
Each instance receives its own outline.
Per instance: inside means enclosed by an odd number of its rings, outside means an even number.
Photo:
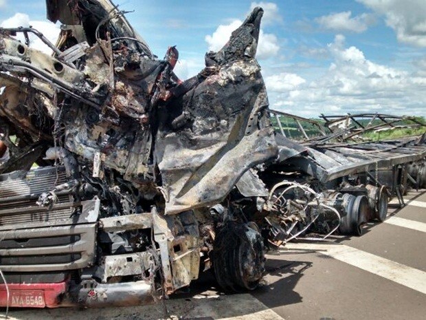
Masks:
[[[251,56],[261,16],[254,10],[221,51],[208,54],[209,71],[216,71],[171,103],[188,116],[179,130],[164,125],[157,135],[166,214],[221,202],[245,171],[278,152],[265,83]]]

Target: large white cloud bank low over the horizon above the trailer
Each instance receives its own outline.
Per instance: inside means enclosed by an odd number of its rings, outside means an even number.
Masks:
[[[366,111],[426,116],[426,73],[373,63],[341,35],[327,50],[333,62],[310,81],[281,72],[265,77],[272,108],[308,117]],[[425,61],[418,65],[426,70]]]

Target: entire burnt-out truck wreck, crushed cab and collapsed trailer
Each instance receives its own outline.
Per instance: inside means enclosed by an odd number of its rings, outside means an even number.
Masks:
[[[63,23],[56,45],[0,29],[1,306],[151,303],[209,269],[224,290],[254,290],[267,247],[360,235],[389,196],[425,187],[424,136],[275,132],[261,8],[181,81],[175,47],[158,59],[109,0],[46,2]]]

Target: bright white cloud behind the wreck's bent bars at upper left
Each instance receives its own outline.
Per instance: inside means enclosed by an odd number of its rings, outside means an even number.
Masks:
[[[2,0],[0,0],[2,1]],[[1,2],[0,2],[1,4]],[[58,35],[60,32],[60,29],[58,26],[56,26],[54,23],[49,21],[31,21],[30,17],[27,14],[23,13],[16,13],[13,17],[10,17],[8,19],[5,19],[3,22],[0,23],[0,26],[3,28],[17,28],[17,27],[29,27],[32,26],[34,29],[38,30],[39,32],[43,33],[43,35],[49,39],[50,42],[56,43],[56,39],[58,39]],[[52,50],[50,50],[43,41],[38,39],[37,36],[34,34],[28,34],[30,38],[30,47],[34,47],[34,49],[41,50],[43,52],[46,52],[48,54],[52,53]],[[19,33],[16,35],[16,39],[19,39],[20,41],[24,42],[25,38],[22,33]]]

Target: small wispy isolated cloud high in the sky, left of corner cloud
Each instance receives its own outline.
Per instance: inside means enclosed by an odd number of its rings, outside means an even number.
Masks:
[[[363,13],[356,17],[351,17],[352,12],[345,11],[329,14],[315,19],[322,28],[337,32],[357,32],[361,33],[368,29],[368,26],[374,23],[372,14]]]

